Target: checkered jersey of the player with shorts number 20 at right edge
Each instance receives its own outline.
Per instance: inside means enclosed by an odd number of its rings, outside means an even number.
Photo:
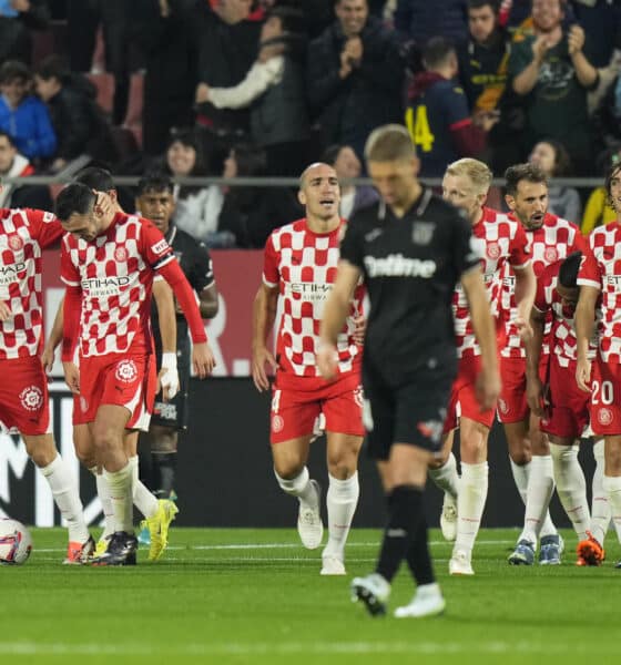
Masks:
[[[578,273],[579,286],[600,289],[597,337],[604,362],[621,365],[621,224],[598,226]]]

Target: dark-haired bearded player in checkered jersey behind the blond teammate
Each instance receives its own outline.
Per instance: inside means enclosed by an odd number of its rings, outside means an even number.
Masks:
[[[548,213],[548,181],[535,164],[510,166],[506,174],[506,202],[526,231],[535,275],[582,250],[586,243],[579,228]],[[505,317],[506,342],[500,351],[502,390],[498,400],[498,418],[505,426],[511,470],[526,504],[525,526],[509,563],[531,564],[541,536],[539,563],[558,564],[562,541],[550,520],[548,504],[554,490],[552,459],[546,434],[539,430],[539,418],[530,412],[526,397],[526,350],[515,325],[515,279],[509,268],[502,279],[500,309]],[[547,375],[549,356],[546,344],[541,355],[541,371]]]

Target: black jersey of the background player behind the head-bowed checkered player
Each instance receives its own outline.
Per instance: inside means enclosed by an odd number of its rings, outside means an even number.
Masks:
[[[204,288],[214,284],[213,266],[210,253],[204,243],[201,243],[185,231],[181,231],[172,222],[165,238],[181,265],[190,286],[200,294]],[[160,337],[160,324],[157,319],[157,308],[153,301],[151,320],[153,324],[153,336],[155,337],[155,347],[162,346]],[[183,314],[176,315],[176,340],[177,348],[186,346],[187,321]]]

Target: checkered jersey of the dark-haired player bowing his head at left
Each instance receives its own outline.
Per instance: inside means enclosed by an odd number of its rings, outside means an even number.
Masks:
[[[105,233],[86,242],[67,234],[61,279],[81,290],[80,352],[84,357],[146,352],[155,270],[175,260],[147,219],[116,213]]]

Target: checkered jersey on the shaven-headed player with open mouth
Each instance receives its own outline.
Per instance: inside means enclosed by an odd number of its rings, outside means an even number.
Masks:
[[[282,226],[265,245],[263,282],[278,287],[282,318],[276,355],[282,374],[320,377],[315,355],[324,305],[329,296],[339,259],[345,221],[327,234],[314,233],[306,219]],[[354,317],[362,314],[363,287],[356,289],[345,329],[338,337],[338,369],[347,372],[360,360],[354,341]]]

